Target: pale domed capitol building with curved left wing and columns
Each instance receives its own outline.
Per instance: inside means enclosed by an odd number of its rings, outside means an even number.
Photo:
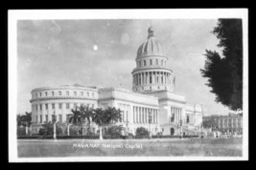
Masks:
[[[65,128],[71,109],[83,104],[122,110],[122,122],[118,124],[128,133],[135,134],[137,128],[145,127],[152,135],[197,134],[201,130],[203,108],[188,104],[185,96],[175,92],[175,74],[167,68],[168,56],[151,27],[148,32],[147,40],[138,48],[136,68],[131,71],[132,90],[80,84],[36,88],[30,100],[32,133],[37,134],[43,123],[52,120],[53,114]],[[97,132],[97,125],[92,129]]]

